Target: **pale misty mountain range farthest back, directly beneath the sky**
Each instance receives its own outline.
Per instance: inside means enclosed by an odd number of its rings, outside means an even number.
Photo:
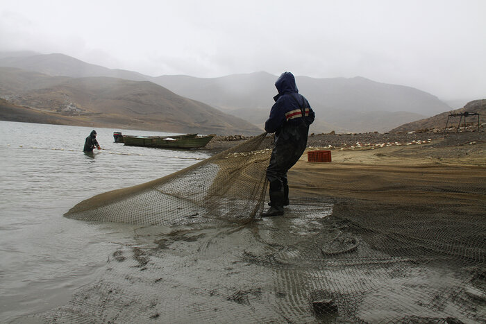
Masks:
[[[0,66],[18,67],[49,76],[108,76],[147,80],[180,96],[201,101],[262,127],[273,105],[278,76],[266,72],[219,78],[145,76],[133,71],[91,65],[63,54],[0,56]],[[403,85],[378,83],[367,78],[309,78],[296,76],[299,92],[314,108],[313,132],[384,132],[397,126],[451,110],[432,94]],[[261,110],[261,111],[260,111]],[[258,117],[258,120],[255,120]]]

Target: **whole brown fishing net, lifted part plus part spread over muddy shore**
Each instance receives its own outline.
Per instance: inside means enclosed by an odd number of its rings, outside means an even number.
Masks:
[[[320,183],[296,166],[289,183],[303,185],[291,187],[285,216],[251,221],[263,208],[271,143],[260,135],[76,205],[68,217],[171,230],[137,228],[137,243],[120,244],[96,282],[36,316],[49,323],[486,321],[483,167],[312,164],[310,174],[326,175]]]

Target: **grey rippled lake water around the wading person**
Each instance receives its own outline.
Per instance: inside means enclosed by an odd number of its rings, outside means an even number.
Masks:
[[[67,302],[115,246],[133,241],[133,225],[65,219],[76,203],[210,157],[203,149],[124,146],[114,131],[169,133],[111,128],[96,128],[103,150],[87,155],[92,129],[0,121],[0,323]]]

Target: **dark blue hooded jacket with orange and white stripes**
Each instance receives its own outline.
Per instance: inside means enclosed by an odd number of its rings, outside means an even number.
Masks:
[[[274,96],[275,103],[271,107],[270,117],[265,121],[265,131],[278,136],[283,127],[299,126],[303,123],[309,126],[315,119],[315,113],[307,99],[299,94],[294,75],[284,72],[276,80],[275,87],[278,94]]]

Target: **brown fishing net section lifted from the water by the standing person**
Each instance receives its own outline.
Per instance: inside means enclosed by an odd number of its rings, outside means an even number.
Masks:
[[[248,222],[262,210],[272,138],[263,133],[164,178],[94,196],[65,216],[169,226]]]

